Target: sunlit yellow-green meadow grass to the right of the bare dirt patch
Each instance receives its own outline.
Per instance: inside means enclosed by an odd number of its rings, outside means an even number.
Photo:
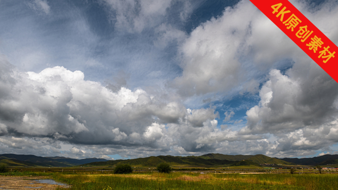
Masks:
[[[337,190],[336,174],[55,173],[71,190]],[[62,189],[62,188],[60,188]]]

